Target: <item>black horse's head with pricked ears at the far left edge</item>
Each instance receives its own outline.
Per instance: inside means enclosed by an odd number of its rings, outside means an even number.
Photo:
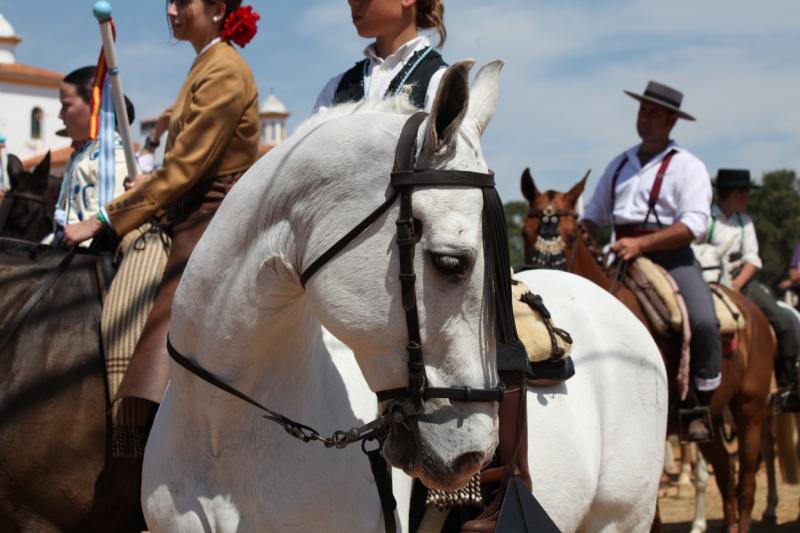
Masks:
[[[55,211],[61,178],[50,175],[50,152],[31,172],[26,172],[22,161],[8,156],[8,177],[11,189],[0,201],[0,236],[40,241],[53,231]]]

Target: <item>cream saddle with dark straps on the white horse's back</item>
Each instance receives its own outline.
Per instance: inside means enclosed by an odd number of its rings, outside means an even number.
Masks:
[[[512,279],[511,302],[517,335],[528,352],[528,383],[554,385],[572,377],[572,337],[553,324],[542,297]]]

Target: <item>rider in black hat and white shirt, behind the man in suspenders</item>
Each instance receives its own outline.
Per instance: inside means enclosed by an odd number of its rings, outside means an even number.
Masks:
[[[750,298],[769,320],[778,339],[775,379],[781,389],[777,395],[784,411],[800,410],[797,391],[797,355],[800,352],[793,319],[775,302],[772,292],[755,279],[761,269],[758,238],[753,221],[747,216],[750,189],[749,170],[720,169],[717,172],[718,202],[711,208],[711,226],[701,242],[729,250],[722,264],[730,275],[730,287]]]

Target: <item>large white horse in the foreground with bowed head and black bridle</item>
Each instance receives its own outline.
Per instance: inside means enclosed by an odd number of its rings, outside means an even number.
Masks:
[[[486,171],[479,137],[494,114],[501,64],[484,67],[470,89],[471,64],[450,67],[442,79],[420,131],[421,168]],[[407,384],[396,205],[305,289],[299,282],[385,199],[397,137],[412,111],[404,101],[331,109],[260,160],[198,243],[173,306],[171,340],[180,352],[324,434],[374,418],[374,391]],[[413,199],[423,228],[415,271],[429,381],[492,387],[481,193],[425,187]],[[535,493],[564,531],[644,531],[666,425],[658,351],[641,324],[591,283],[562,273],[522,278],[575,336],[578,372],[566,385],[529,392]],[[326,348],[322,326],[354,357]],[[429,486],[463,485],[496,446],[496,410],[493,403],[425,402],[412,420],[414,438],[391,435],[385,455]],[[398,525],[406,531],[409,478],[393,474]],[[383,530],[359,450],[292,439],[176,365],[148,442],[142,490],[155,532]]]

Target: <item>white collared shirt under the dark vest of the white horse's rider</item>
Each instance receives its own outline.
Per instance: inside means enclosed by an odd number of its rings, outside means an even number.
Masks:
[[[378,57],[375,43],[367,46],[364,49],[364,56],[369,59],[364,76],[365,98],[383,98],[392,80],[400,73],[411,56],[417,51],[430,46],[430,44],[430,40],[426,36],[420,35],[405,43],[386,59]],[[425,111],[430,111],[433,106],[436,90],[439,88],[439,82],[442,80],[442,75],[444,75],[445,70],[446,67],[442,67],[431,77],[428,91],[425,93]],[[342,81],[342,76],[344,76],[344,72],[331,78],[325,87],[323,87],[322,92],[320,92],[317,97],[317,102],[314,104],[314,109],[311,111],[312,115],[334,105],[333,98],[336,95],[336,89],[339,87],[339,83]]]

